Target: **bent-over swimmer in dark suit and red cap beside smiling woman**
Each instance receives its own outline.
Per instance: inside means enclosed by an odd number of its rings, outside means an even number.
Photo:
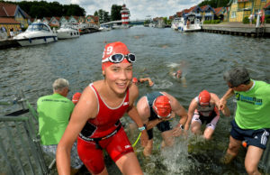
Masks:
[[[137,103],[139,116],[148,130],[148,145],[143,154],[149,156],[153,149],[153,127],[157,126],[163,138],[162,148],[174,144],[174,136],[182,134],[187,113],[183,106],[166,92],[154,91],[141,97]],[[172,128],[169,120],[179,115],[179,124]]]

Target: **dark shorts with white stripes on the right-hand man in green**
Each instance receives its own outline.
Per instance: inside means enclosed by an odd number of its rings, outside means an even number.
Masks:
[[[235,120],[230,122],[231,130],[230,135],[239,141],[246,141],[247,146],[253,145],[261,149],[266,149],[266,143],[269,137],[270,129],[241,129]]]

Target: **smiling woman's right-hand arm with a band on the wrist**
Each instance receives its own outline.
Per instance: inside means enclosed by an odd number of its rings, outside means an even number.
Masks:
[[[128,109],[128,115],[130,115],[130,118],[137,124],[139,128],[143,127],[144,123],[139,115],[136,106],[134,106],[135,99],[137,99],[138,96],[139,96],[139,89],[137,86],[132,84],[130,86],[130,107]],[[146,146],[148,143],[148,133],[146,129],[141,132],[140,142],[143,147]]]

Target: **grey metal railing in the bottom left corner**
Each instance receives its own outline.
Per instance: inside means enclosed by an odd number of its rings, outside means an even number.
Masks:
[[[40,147],[37,129],[38,115],[23,93],[11,101],[0,101],[0,106],[22,106],[21,110],[0,115],[1,174],[49,174],[49,166]]]

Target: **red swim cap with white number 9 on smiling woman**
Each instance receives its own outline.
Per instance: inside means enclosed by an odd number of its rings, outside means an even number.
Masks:
[[[130,51],[128,50],[126,44],[122,43],[121,41],[115,41],[112,43],[108,43],[105,46],[105,49],[103,51],[103,60],[109,58],[111,55],[115,54],[115,53],[121,53],[124,55],[127,55],[128,53],[130,53]],[[129,61],[124,59],[122,60],[123,63],[128,63]],[[109,66],[111,66],[112,62],[108,61],[108,62],[103,62],[102,64],[102,68],[105,69]]]

